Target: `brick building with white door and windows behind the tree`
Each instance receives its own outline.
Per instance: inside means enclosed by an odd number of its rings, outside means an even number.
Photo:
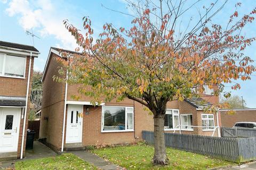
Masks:
[[[76,53],[59,48],[50,48],[43,73],[43,100],[39,138],[45,140],[51,148],[63,151],[83,149],[88,145],[123,144],[142,140],[143,130],[154,130],[153,115],[144,111],[136,101],[124,99],[93,106],[91,98],[78,95],[79,85],[53,81],[53,76],[60,75],[60,63],[54,58],[61,57],[60,52],[70,55]],[[65,58],[63,58],[65,60]],[[211,89],[206,88],[204,99],[218,103],[218,97],[211,96]],[[165,131],[186,134],[214,135],[219,124],[217,114],[205,114],[203,99],[193,98],[184,101],[171,101],[167,104]],[[83,116],[79,116],[83,113]],[[182,126],[179,126],[182,125]],[[199,127],[191,127],[199,126]]]

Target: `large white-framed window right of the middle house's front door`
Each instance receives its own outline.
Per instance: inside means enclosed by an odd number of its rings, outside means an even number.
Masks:
[[[133,131],[133,107],[102,106],[101,131]]]

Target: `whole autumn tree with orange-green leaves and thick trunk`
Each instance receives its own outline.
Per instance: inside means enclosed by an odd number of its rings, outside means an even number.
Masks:
[[[250,80],[255,67],[251,64],[253,60],[243,52],[255,38],[245,37],[241,31],[254,20],[256,8],[242,16],[235,10],[227,24],[220,25],[212,23],[212,18],[227,1],[221,2],[217,9],[219,1],[216,1],[204,6],[204,12],[198,12],[193,27],[181,33],[177,29],[179,19],[188,17],[187,12],[198,1],[186,8],[183,4],[187,1],[156,2],[130,2],[136,14],[131,27],[117,29],[106,23],[96,39],[89,17],[83,18],[84,32],[65,20],[65,27],[79,46],[76,51],[82,53],[63,52],[66,59],[57,60],[63,64],[60,73],[66,73],[67,69],[68,76],[54,79],[82,84],[79,92],[92,97],[94,104],[127,97],[145,105],[154,115],[153,163],[164,165],[168,162],[164,147],[164,115],[168,101],[200,97],[204,84],[211,89],[217,86],[214,95],[218,96],[223,91],[223,83]],[[235,9],[240,5],[237,3]],[[164,11],[163,6],[167,10]],[[232,88],[239,89],[240,85],[235,83]]]

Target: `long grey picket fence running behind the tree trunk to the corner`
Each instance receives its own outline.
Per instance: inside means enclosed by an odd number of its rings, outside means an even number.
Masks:
[[[143,131],[143,140],[154,143],[154,132]],[[236,138],[205,137],[189,134],[165,133],[165,145],[202,155],[239,162]]]

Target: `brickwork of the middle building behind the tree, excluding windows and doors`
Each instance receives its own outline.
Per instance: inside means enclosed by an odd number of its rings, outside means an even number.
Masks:
[[[63,100],[65,97],[65,84],[53,82],[53,75],[58,74],[57,67],[59,63],[51,60],[49,69],[47,71],[44,80],[44,92],[43,92],[43,108],[41,116],[41,132],[40,137],[47,137],[47,142],[54,146],[56,149],[61,148],[62,139],[62,121],[63,121]],[[67,100],[73,100],[71,95],[78,94],[78,85],[68,85]],[[90,101],[89,97],[81,95],[79,101]],[[206,96],[207,97],[207,96]],[[216,98],[214,99],[216,100]],[[130,143],[137,139],[142,139],[142,130],[154,130],[153,115],[150,115],[148,111],[143,110],[141,104],[130,100],[124,99],[120,103],[115,100],[111,103],[105,103],[106,106],[133,106],[134,107],[134,132],[101,132],[101,106],[87,106],[89,107],[89,115],[83,116],[83,137],[82,143],[86,145],[95,144],[120,144],[120,143]],[[84,106],[84,109],[86,106]],[[167,103],[167,108],[169,109],[179,109],[180,114],[193,114],[193,125],[201,126],[201,114],[202,111],[197,111],[194,106],[191,106],[186,101],[171,101]],[[68,106],[67,106],[68,111]],[[85,112],[85,111],[84,111]],[[66,112],[67,114],[67,112]],[[49,120],[45,121],[44,117],[48,117]],[[215,125],[217,125],[216,115]],[[66,131],[65,131],[66,132]],[[173,132],[173,131],[170,131]],[[177,131],[178,132],[178,131]],[[211,135],[212,131],[205,132],[202,128],[195,128],[193,132],[182,131],[182,133],[188,134],[201,134],[201,135]],[[215,133],[216,135],[217,133]],[[66,138],[66,134],[65,134]],[[66,140],[66,139],[65,139]]]

